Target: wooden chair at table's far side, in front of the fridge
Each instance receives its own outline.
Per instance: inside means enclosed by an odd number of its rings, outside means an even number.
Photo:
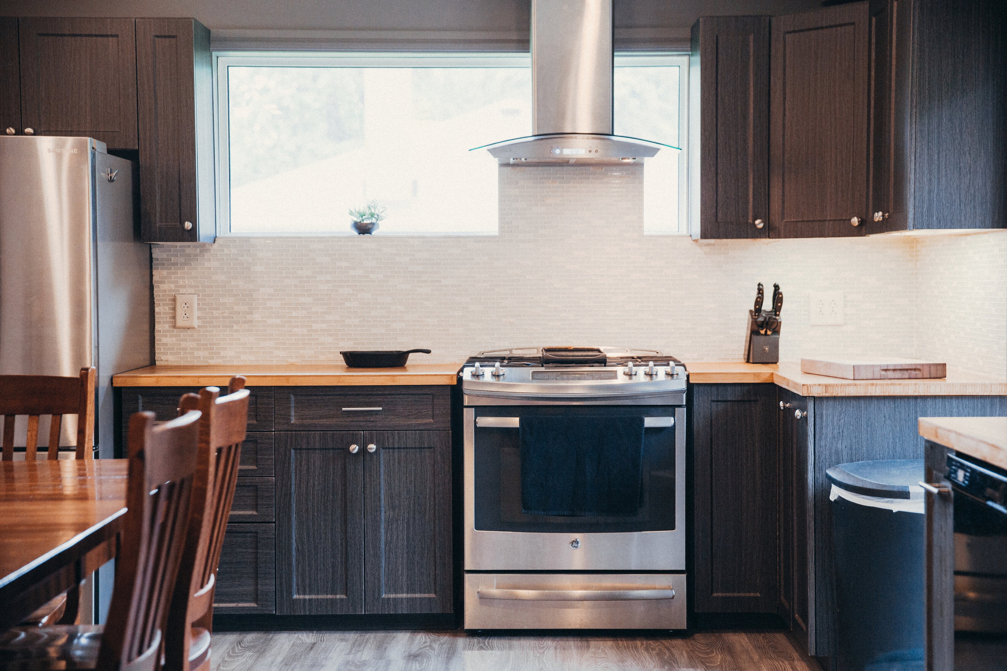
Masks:
[[[0,375],[0,414],[3,422],[3,461],[14,460],[14,420],[28,415],[28,441],[24,458],[38,453],[38,420],[51,414],[48,459],[59,458],[62,415],[76,414],[77,458],[93,459],[95,442],[95,368],[81,368],[78,377],[56,375]]]

